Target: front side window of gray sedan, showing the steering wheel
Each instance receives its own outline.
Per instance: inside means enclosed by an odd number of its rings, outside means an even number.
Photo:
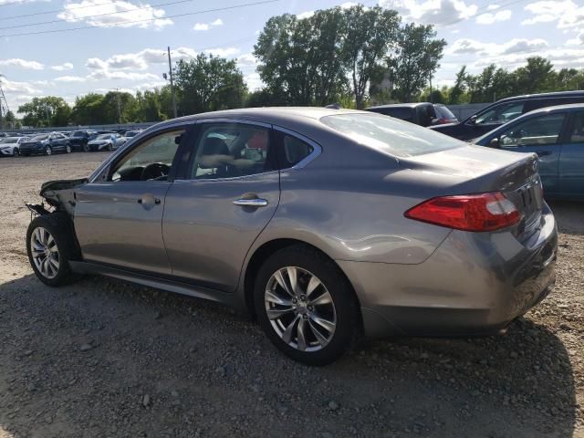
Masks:
[[[172,130],[143,141],[110,172],[110,181],[167,181],[184,130]]]

